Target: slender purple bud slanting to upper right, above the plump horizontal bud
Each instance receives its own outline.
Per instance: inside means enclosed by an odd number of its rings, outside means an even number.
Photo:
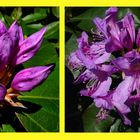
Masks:
[[[14,62],[16,65],[21,64],[34,56],[34,54],[38,51],[38,49],[41,46],[43,35],[46,32],[46,30],[47,27],[44,27],[40,31],[32,34],[20,43],[20,50]]]

